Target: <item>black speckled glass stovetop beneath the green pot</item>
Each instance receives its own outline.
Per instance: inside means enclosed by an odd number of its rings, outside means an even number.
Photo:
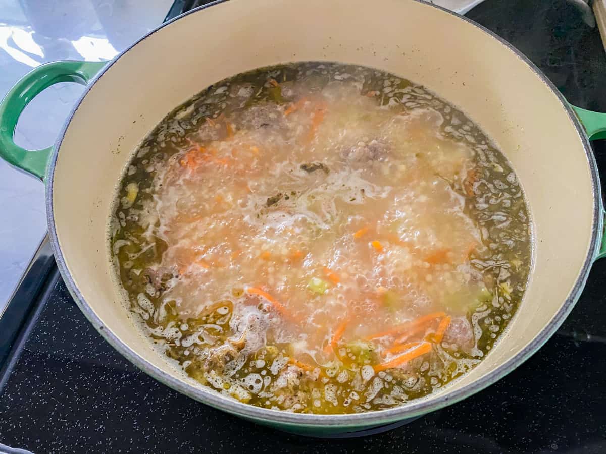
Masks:
[[[169,17],[198,3],[177,0]],[[599,33],[565,0],[488,0],[468,16],[570,102],[606,111]],[[594,148],[606,169],[604,141]],[[0,452],[604,453],[605,288],[603,260],[558,334],[477,395],[390,432],[321,440],[219,412],[136,369],[85,320],[45,244],[0,318]]]

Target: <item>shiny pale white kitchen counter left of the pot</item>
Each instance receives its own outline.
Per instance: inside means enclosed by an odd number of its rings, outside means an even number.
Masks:
[[[0,96],[55,60],[113,58],[162,22],[172,0],[0,0]],[[19,119],[15,142],[51,145],[84,87],[58,84]],[[44,185],[0,160],[0,314],[46,232]]]

